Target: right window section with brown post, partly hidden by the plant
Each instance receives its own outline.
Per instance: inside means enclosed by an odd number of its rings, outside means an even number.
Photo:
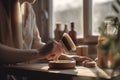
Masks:
[[[84,41],[95,42],[99,35],[98,27],[107,16],[116,15],[112,5],[118,7],[119,0],[84,0]],[[117,14],[118,15],[118,14]]]

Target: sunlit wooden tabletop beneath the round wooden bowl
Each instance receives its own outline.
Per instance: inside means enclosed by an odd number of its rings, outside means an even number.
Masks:
[[[22,75],[22,76],[33,76],[33,73],[35,75],[40,75],[40,73],[46,73],[46,74],[52,74],[52,75],[62,75],[62,76],[68,76],[68,77],[89,77],[97,79],[110,79],[111,76],[108,75],[105,71],[103,71],[99,67],[95,68],[86,68],[83,66],[76,66],[75,69],[61,69],[61,70],[53,70],[49,69],[48,64],[45,63],[34,63],[34,64],[20,64],[20,65],[10,65],[10,66],[4,66],[4,69],[2,69],[4,72],[7,72],[8,74],[16,74],[16,75]],[[28,72],[28,73],[26,73]],[[25,74],[26,73],[26,74]],[[31,73],[31,74],[30,74]],[[45,75],[46,75],[45,74]],[[64,78],[64,77],[63,77]]]

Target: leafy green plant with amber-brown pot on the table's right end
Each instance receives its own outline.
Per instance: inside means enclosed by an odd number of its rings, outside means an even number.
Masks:
[[[101,68],[112,68],[114,58],[120,53],[120,23],[118,17],[108,16],[99,27],[97,64]]]

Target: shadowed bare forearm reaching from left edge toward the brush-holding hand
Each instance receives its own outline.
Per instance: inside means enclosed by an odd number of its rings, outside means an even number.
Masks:
[[[37,49],[15,49],[0,44],[0,63],[14,64],[43,58]]]

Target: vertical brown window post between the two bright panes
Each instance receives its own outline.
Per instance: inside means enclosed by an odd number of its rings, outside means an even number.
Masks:
[[[83,42],[97,43],[97,37],[92,35],[92,0],[83,0]]]

